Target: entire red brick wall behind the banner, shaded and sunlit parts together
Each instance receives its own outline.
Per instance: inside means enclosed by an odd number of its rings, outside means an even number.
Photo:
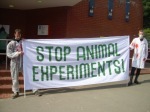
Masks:
[[[0,24],[10,25],[10,37],[13,36],[15,28],[21,28],[25,38],[84,38],[114,35],[130,35],[133,38],[143,26],[143,9],[141,0],[131,2],[129,22],[125,22],[125,3],[120,5],[119,0],[114,0],[112,20],[107,19],[108,0],[95,0],[94,17],[88,17],[88,0],[82,0],[72,7],[0,9]],[[37,35],[37,26],[41,24],[50,26],[48,36]]]

